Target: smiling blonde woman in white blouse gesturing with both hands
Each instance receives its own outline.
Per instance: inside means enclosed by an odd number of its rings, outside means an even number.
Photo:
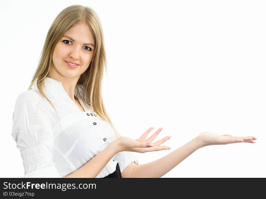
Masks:
[[[65,8],[51,25],[27,91],[18,95],[12,137],[21,151],[24,177],[160,178],[197,149],[255,143],[254,136],[204,132],[167,156],[138,164],[139,153],[166,150],[153,127],[138,139],[121,136],[103,104],[106,56],[94,10]]]

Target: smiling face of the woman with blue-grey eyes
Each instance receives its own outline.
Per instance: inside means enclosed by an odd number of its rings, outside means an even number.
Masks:
[[[94,50],[92,32],[85,23],[77,24],[66,31],[55,46],[53,64],[50,75],[52,78],[77,78],[86,71]],[[79,64],[70,67],[66,62]]]

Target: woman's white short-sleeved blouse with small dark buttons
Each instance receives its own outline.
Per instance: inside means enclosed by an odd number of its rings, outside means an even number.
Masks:
[[[76,171],[116,139],[110,124],[83,104],[80,111],[63,88],[61,82],[46,77],[41,96],[36,82],[30,90],[18,95],[13,113],[11,136],[21,152],[24,177],[63,178]],[[121,172],[131,163],[138,164],[137,152],[119,152],[105,165],[96,178],[103,178],[116,170]]]

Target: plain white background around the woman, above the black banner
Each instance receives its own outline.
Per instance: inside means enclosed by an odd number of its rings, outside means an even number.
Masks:
[[[198,149],[162,178],[266,177],[265,1],[4,1],[1,0],[0,177],[22,177],[11,137],[18,94],[30,85],[54,18],[70,5],[91,7],[107,53],[103,97],[123,136],[149,127],[171,135],[170,150],[209,131],[256,136],[256,143]]]

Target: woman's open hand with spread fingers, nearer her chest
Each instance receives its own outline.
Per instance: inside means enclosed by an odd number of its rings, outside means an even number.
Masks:
[[[118,137],[117,141],[119,145],[119,151],[132,151],[132,152],[145,153],[149,151],[160,151],[160,150],[165,150],[165,149],[171,149],[170,146],[160,146],[162,143],[168,140],[171,136],[166,136],[163,139],[152,143],[152,141],[157,137],[157,135],[161,132],[163,128],[159,128],[152,136],[146,139],[146,137],[148,136],[148,134],[151,132],[153,128],[154,127],[151,127],[148,130],[146,130],[141,135],[141,137],[136,140],[125,137],[125,136]],[[148,143],[152,145],[148,146],[147,145]]]

